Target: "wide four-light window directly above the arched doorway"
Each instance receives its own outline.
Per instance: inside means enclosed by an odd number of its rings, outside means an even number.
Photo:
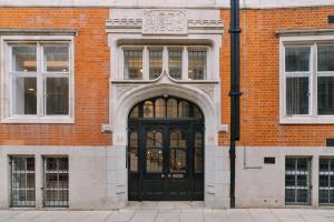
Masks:
[[[208,47],[122,47],[124,79],[155,80],[166,71],[175,80],[207,80]]]

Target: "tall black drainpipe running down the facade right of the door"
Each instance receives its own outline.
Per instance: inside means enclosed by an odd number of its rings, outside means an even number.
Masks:
[[[235,143],[240,138],[240,26],[239,0],[230,0],[230,208],[235,208]]]

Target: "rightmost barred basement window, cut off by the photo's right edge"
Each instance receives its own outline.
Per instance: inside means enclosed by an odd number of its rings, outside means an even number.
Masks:
[[[334,159],[320,159],[318,203],[334,204]]]

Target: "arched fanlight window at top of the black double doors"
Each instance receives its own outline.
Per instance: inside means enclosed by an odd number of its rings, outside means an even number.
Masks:
[[[204,120],[203,113],[196,104],[174,97],[151,98],[136,104],[129,114],[129,119],[141,118]]]

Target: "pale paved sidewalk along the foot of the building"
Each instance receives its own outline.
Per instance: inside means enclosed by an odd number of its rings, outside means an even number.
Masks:
[[[203,202],[131,202],[117,211],[0,211],[0,222],[334,222],[334,209],[207,209]]]

